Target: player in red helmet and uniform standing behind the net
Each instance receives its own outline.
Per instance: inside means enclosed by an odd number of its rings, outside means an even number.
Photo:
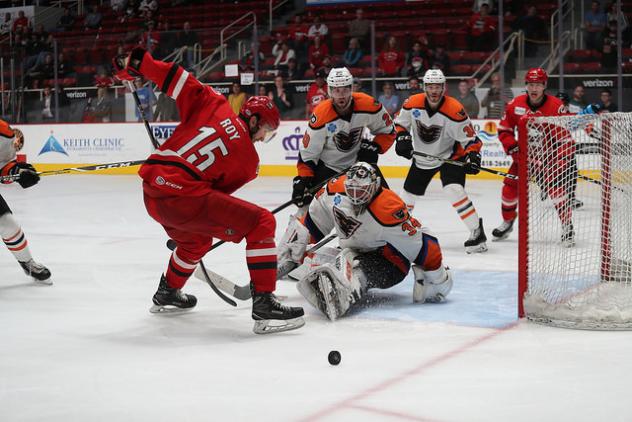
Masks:
[[[566,113],[564,103],[553,95],[545,93],[548,75],[542,68],[530,69],[525,75],[525,84],[527,93],[514,98],[507,107],[498,127],[498,138],[503,144],[505,152],[511,156],[513,163],[509,168],[509,173],[518,175],[518,141],[516,140],[515,131],[521,118],[527,115],[533,116],[559,116]],[[564,129],[553,128],[549,136],[542,145],[550,154],[546,163],[551,171],[540,174],[547,174],[545,178],[540,178],[537,183],[548,194],[553,201],[555,209],[562,223],[562,244],[564,246],[574,245],[574,231],[571,222],[571,206],[568,189],[559,183],[567,172],[571,171],[571,164],[574,157],[575,149],[572,142],[563,142],[570,138],[570,133]],[[558,183],[556,183],[558,180]],[[492,231],[494,240],[502,240],[507,238],[513,230],[516,220],[516,208],[518,207],[518,182],[509,178],[505,178],[502,189],[502,216],[503,223]]]

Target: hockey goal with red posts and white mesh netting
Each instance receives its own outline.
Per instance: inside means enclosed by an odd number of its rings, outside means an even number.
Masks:
[[[632,329],[632,113],[524,117],[518,138],[519,316]]]

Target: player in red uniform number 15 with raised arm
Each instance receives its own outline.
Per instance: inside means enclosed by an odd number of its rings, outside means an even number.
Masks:
[[[139,171],[149,215],[177,243],[153,297],[152,312],[193,308],[197,299],[180,289],[213,238],[246,239],[255,333],[303,326],[303,309],[282,306],[272,294],[277,274],[274,216],[231,196],[257,177],[254,142],[271,138],[279,126],[278,109],[267,97],[251,97],[237,116],[223,95],[176,63],[154,60],[142,48],[113,63],[121,80],[143,76],[153,81],[176,101],[181,117],[173,135]]]

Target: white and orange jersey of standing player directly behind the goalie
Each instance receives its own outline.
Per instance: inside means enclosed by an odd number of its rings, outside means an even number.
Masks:
[[[378,144],[380,154],[393,145],[395,126],[384,107],[367,94],[354,92],[352,96],[349,119],[338,115],[331,99],[314,110],[299,146],[299,176],[312,176],[319,162],[338,172],[350,167],[357,161],[365,127],[375,136],[373,142]]]

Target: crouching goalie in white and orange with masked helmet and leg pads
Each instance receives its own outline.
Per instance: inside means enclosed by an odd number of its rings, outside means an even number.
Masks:
[[[302,264],[298,290],[330,320],[345,315],[369,289],[400,283],[411,265],[414,302],[443,302],[452,288],[438,240],[379,179],[367,163],[352,166],[316,195],[279,246],[280,265]],[[334,229],[342,250],[321,248],[306,256],[309,243]]]

